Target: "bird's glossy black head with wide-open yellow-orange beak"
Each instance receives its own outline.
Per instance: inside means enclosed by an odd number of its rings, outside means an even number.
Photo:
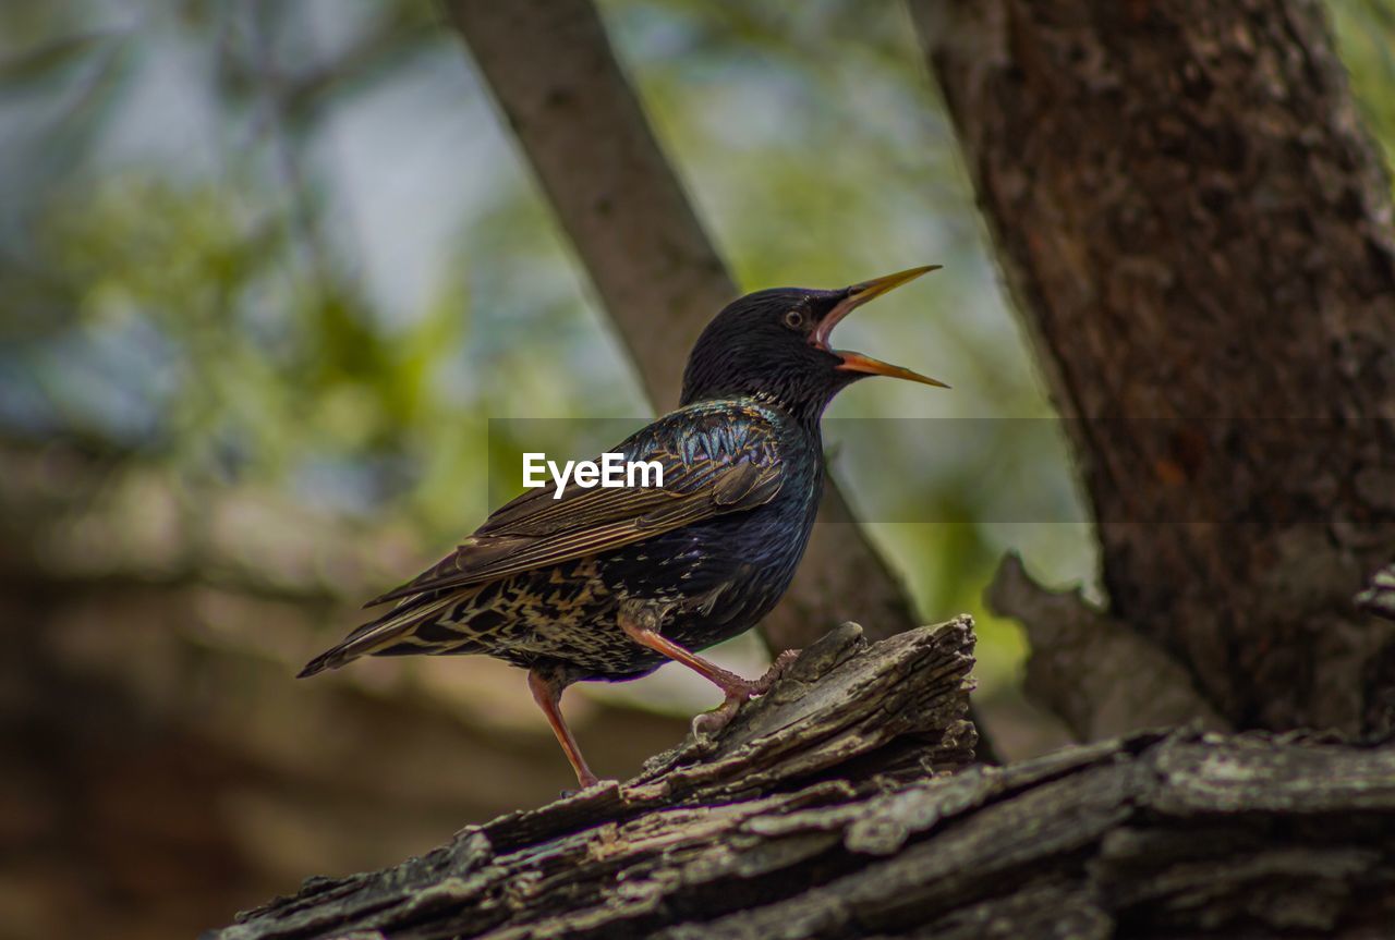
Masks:
[[[834,395],[868,375],[949,388],[900,365],[829,344],[829,335],[844,317],[937,266],[912,268],[840,290],[757,290],[728,304],[707,324],[688,357],[682,404],[755,396],[817,421]]]

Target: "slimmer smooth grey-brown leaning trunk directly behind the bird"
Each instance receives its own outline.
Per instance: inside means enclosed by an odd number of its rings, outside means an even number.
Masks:
[[[596,10],[590,0],[445,6],[650,400],[674,407],[688,350],[738,290]],[[762,630],[771,649],[798,649],[847,619],[873,623],[877,636],[915,625],[904,590],[830,483],[794,586]]]

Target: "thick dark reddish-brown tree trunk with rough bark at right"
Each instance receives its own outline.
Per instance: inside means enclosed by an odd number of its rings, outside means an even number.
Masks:
[[[1067,417],[1109,621],[1198,715],[1391,727],[1395,630],[1352,601],[1395,556],[1391,190],[1320,6],[911,8]]]

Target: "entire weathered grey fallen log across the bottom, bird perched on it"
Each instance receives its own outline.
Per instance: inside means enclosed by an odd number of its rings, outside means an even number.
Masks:
[[[1395,746],[1141,734],[975,766],[967,618],[845,626],[626,784],[205,940],[1384,936]]]

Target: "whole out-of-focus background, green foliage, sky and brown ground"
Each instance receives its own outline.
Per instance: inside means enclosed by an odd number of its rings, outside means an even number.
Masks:
[[[1328,7],[1389,155],[1395,0]],[[1062,437],[1004,420],[1052,411],[904,10],[600,8],[742,289],[944,265],[840,338],[954,391],[859,385],[831,463],[921,618],[978,618],[1003,755],[1057,746],[979,593],[1009,549],[1094,591],[1091,533]],[[439,11],[6,3],[0,82],[0,936],[190,936],[568,787],[501,664],[293,679],[543,423],[587,457],[566,428],[650,414]],[[711,704],[674,669],[568,696],[619,777]]]

